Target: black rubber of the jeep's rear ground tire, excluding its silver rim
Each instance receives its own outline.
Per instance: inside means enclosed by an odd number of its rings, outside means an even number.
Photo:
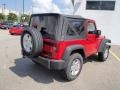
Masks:
[[[76,59],[79,59],[79,61],[80,61],[80,63],[79,63],[80,68],[79,68],[79,71],[78,71],[78,73],[76,75],[72,75],[72,73],[71,73],[71,66],[72,66],[73,61],[76,60]],[[62,70],[61,73],[62,73],[62,76],[66,80],[72,81],[72,80],[76,79],[79,76],[80,72],[81,72],[81,69],[82,69],[82,66],[83,66],[83,58],[82,58],[82,56],[80,54],[75,53],[75,54],[72,54],[69,57],[68,60],[69,61],[67,63],[66,68],[64,70]]]

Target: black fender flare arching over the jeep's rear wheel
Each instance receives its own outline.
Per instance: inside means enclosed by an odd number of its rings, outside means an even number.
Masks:
[[[66,61],[70,56],[70,54],[72,53],[72,51],[75,51],[75,50],[82,50],[84,54],[83,57],[86,58],[85,49],[83,45],[72,45],[66,48],[62,59]]]

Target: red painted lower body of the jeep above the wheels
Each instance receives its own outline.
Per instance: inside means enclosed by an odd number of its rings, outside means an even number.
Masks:
[[[44,44],[43,56],[49,58],[49,56],[47,56],[47,55],[48,55],[48,53],[51,53],[52,59],[61,60],[67,47],[72,46],[72,45],[83,45],[84,49],[85,49],[85,54],[87,57],[89,57],[90,55],[98,52],[99,45],[100,45],[101,41],[103,40],[103,38],[104,37],[96,38],[95,41],[89,41],[87,39],[59,41],[55,45],[53,43],[53,45],[51,45],[51,46]],[[47,42],[47,41],[44,41],[44,42]],[[49,42],[50,42],[50,40],[49,40]],[[52,42],[54,42],[54,41],[52,41]],[[54,50],[54,48],[56,48],[56,49]],[[47,52],[47,54],[45,55],[44,52]]]

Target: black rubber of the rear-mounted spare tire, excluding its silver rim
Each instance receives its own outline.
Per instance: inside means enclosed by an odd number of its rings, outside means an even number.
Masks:
[[[30,35],[30,37],[32,38],[32,48],[29,52],[24,48],[25,46],[23,44],[23,38],[26,34]],[[41,33],[35,28],[27,28],[21,36],[21,47],[23,56],[31,58],[38,57],[43,48],[43,38]]]

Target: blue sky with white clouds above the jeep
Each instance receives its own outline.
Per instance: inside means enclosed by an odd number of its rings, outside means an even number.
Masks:
[[[6,4],[6,8],[22,12],[23,0],[0,0],[0,7]],[[24,0],[25,12],[33,13],[64,13],[72,14],[71,0]],[[33,9],[32,9],[33,7]]]

